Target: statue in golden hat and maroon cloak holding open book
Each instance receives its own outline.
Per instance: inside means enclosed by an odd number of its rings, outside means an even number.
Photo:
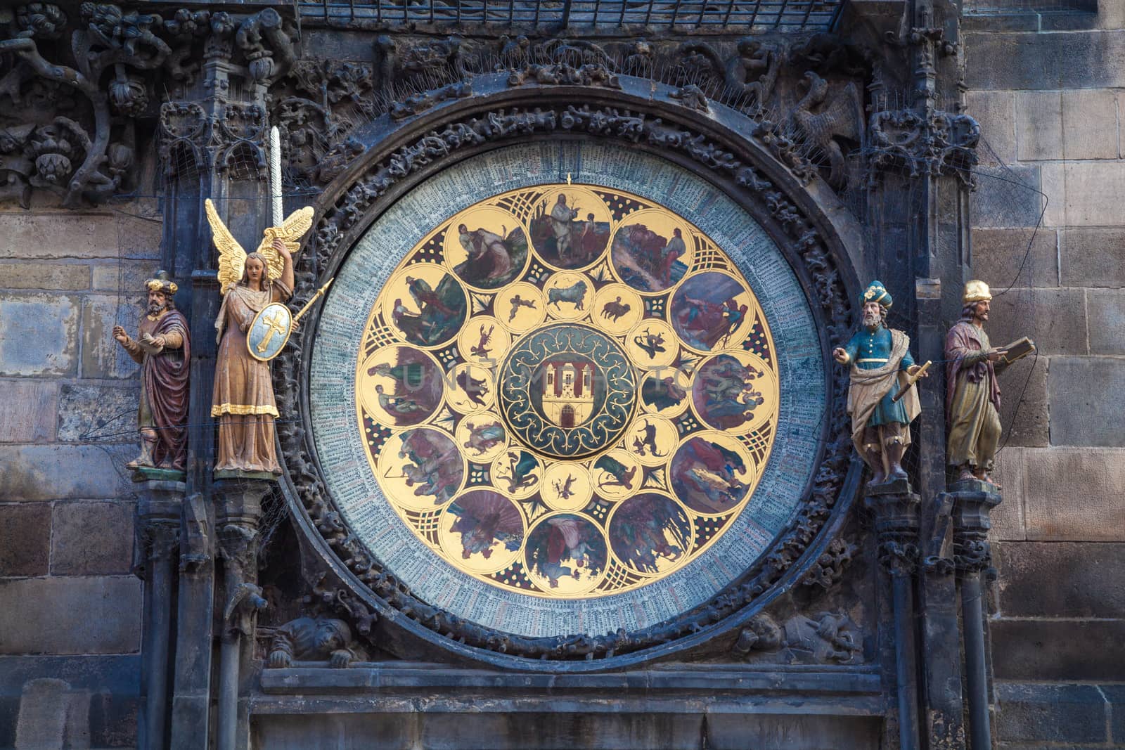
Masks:
[[[1000,442],[1000,385],[997,374],[1035,351],[1028,338],[994,347],[984,332],[992,293],[983,281],[970,281],[962,295],[961,319],[945,337],[946,460],[956,481],[992,485],[992,463]]]

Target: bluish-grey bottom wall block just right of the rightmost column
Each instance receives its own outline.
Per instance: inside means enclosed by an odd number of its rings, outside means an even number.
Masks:
[[[1006,742],[1100,742],[1106,702],[1091,685],[997,683],[996,735]],[[1026,747],[1026,746],[1022,746]]]

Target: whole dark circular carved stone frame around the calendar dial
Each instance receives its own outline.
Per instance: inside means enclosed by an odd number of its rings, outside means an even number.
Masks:
[[[335,273],[352,245],[415,186],[480,153],[548,138],[613,142],[686,168],[735,200],[766,229],[796,273],[816,317],[821,356],[843,340],[853,317],[860,232],[819,179],[795,178],[755,143],[755,123],[722,107],[710,116],[669,98],[670,89],[621,76],[621,89],[508,88],[502,76],[474,81],[476,96],[444,102],[397,124],[388,117],[357,129],[364,153],[321,193],[313,238],[298,261],[295,301],[302,304]],[[583,105],[575,106],[573,102]],[[534,671],[597,671],[729,648],[738,629],[796,586],[839,533],[862,471],[853,460],[844,413],[846,373],[826,367],[830,395],[817,472],[801,509],[768,551],[710,602],[672,622],[634,632],[529,639],[462,621],[414,597],[381,569],[345,527],[327,496],[312,441],[304,343],[318,324],[314,308],[274,367],[286,457],[284,491],[298,528],[326,569],[379,615],[372,638],[405,652]],[[393,630],[393,632],[392,632]],[[395,651],[397,649],[390,648]]]

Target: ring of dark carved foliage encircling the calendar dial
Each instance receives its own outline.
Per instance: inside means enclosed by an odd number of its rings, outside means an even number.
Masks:
[[[802,259],[813,281],[812,302],[819,307],[828,323],[828,336],[838,340],[844,335],[848,326],[848,302],[835,257],[826,249],[817,229],[802,217],[801,211],[781,189],[764,179],[753,166],[740,162],[735,154],[702,135],[664,123],[659,118],[614,108],[567,106],[558,109],[489,111],[471,119],[451,123],[399,148],[381,162],[372,163],[321,217],[315,238],[316,252],[305,254],[297,269],[296,300],[307,299],[314,293],[316,270],[327,268],[333,257],[348,247],[349,241],[362,228],[361,218],[364,214],[404,177],[466,146],[558,132],[642,142],[683,154],[703,168],[734,179],[767,207],[773,220]],[[279,406],[290,414],[302,412],[298,392],[303,378],[305,331],[302,328],[297,332],[291,340],[294,346],[278,358],[274,368]],[[425,627],[477,648],[529,658],[593,659],[667,642],[716,623],[760,596],[796,562],[830,516],[847,472],[850,439],[847,415],[843,408],[847,389],[846,376],[837,373],[832,389],[834,409],[824,463],[801,510],[762,561],[708,604],[672,621],[634,632],[619,631],[595,636],[514,636],[465,622],[440,607],[417,599],[340,522],[332,499],[326,495],[320,468],[312,458],[308,436],[302,423],[295,419],[278,427],[290,478],[313,524],[350,570],[389,606]]]

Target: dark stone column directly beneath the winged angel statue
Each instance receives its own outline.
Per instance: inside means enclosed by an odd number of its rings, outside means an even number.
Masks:
[[[219,557],[223,561],[222,632],[216,742],[218,750],[234,750],[238,734],[238,675],[244,660],[243,640],[253,644],[256,613],[266,606],[258,586],[258,522],[262,500],[273,482],[219,479],[214,485]]]

